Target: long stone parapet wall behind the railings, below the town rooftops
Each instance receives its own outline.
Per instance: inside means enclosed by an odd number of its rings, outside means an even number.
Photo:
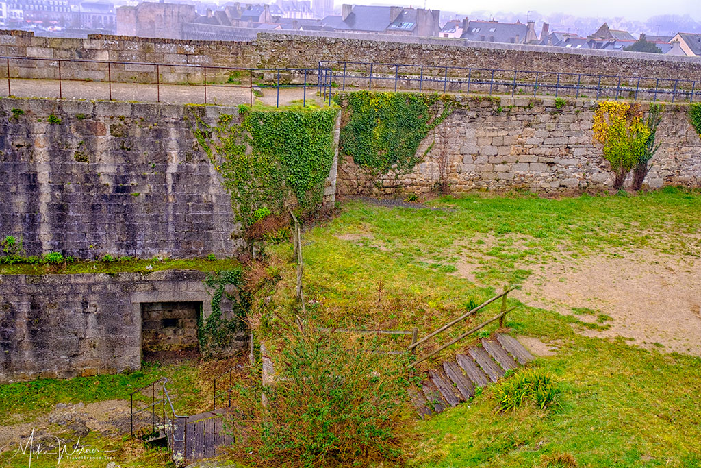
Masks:
[[[48,59],[113,60],[173,65],[224,67],[311,67],[319,60],[390,62],[442,67],[482,67],[648,76],[661,79],[698,80],[701,58],[669,57],[648,53],[582,51],[559,47],[485,44],[442,39],[357,35],[308,36],[261,33],[255,41],[187,41],[92,34],[88,39],[35,37],[32,33],[0,31],[0,55]],[[112,79],[154,82],[155,67],[112,65]],[[213,78],[215,70],[207,74]],[[107,66],[64,62],[62,76],[107,81]],[[6,69],[0,65],[0,77]],[[57,78],[55,62],[11,62],[11,76]],[[202,69],[161,70],[161,82],[203,81]],[[662,83],[667,85],[667,83]]]

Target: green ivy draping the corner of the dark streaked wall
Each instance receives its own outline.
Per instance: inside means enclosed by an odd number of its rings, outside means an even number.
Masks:
[[[268,208],[281,213],[293,195],[302,210],[316,208],[334,160],[336,108],[241,106],[216,126],[196,117],[195,136],[224,178],[244,226]]]

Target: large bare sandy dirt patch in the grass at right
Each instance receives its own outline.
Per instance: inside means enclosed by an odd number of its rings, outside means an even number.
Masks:
[[[598,316],[609,325],[577,327],[584,335],[620,336],[648,349],[701,356],[699,291],[700,259],[635,250],[542,265],[516,296],[561,314],[585,309],[590,313],[578,319],[593,323]]]

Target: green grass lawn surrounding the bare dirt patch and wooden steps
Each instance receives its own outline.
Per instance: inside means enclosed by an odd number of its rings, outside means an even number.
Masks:
[[[428,205],[440,209],[348,201],[337,218],[306,232],[306,294],[319,302],[311,307],[313,319],[329,326],[417,326],[421,336],[503,284],[522,283],[543,263],[639,248],[701,254],[698,192],[571,199],[475,194]],[[465,256],[475,259],[484,286],[453,274]],[[578,324],[578,316],[533,307],[510,314],[513,333],[558,340],[555,356],[531,364],[557,382],[556,405],[497,414],[488,388],[416,424],[409,464],[554,467],[566,466],[556,461],[565,454],[580,467],[701,466],[701,359],[585,337],[576,333]],[[449,335],[463,331],[455,328]]]

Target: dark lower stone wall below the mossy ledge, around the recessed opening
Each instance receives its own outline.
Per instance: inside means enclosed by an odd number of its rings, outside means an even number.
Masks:
[[[0,382],[139,369],[142,302],[201,302],[206,317],[204,278],[175,270],[0,275]]]

